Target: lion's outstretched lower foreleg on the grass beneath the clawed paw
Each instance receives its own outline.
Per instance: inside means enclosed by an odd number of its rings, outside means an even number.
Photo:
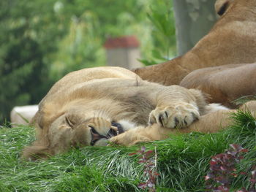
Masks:
[[[240,110],[256,111],[256,101],[249,101],[240,107]],[[119,145],[135,145],[138,142],[149,142],[161,140],[170,137],[172,134],[187,134],[191,132],[215,133],[226,128],[232,123],[230,113],[236,110],[217,110],[201,115],[199,120],[192,123],[187,128],[165,128],[162,125],[154,123],[147,127],[133,128],[124,134],[112,137],[110,142]]]

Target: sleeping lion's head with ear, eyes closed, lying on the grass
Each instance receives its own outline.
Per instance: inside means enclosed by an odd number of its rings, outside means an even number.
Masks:
[[[70,118],[70,115],[57,118],[48,129],[48,137],[45,137],[44,129],[37,128],[37,131],[38,139],[34,145],[23,150],[22,156],[25,159],[34,161],[48,158],[70,147],[105,146],[108,145],[108,139],[124,132],[119,123],[111,123],[105,118],[77,121]]]

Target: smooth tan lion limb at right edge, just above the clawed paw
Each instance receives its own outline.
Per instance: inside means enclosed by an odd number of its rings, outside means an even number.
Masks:
[[[234,64],[197,69],[181,81],[185,88],[208,93],[210,103],[236,107],[234,100],[256,94],[256,64]]]

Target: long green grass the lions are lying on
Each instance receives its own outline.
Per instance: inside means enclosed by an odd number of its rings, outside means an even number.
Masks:
[[[256,164],[256,120],[248,112],[232,115],[233,125],[217,134],[192,133],[144,144],[157,147],[157,191],[205,191],[204,176],[212,155],[231,143],[249,149],[238,171]],[[29,127],[0,128],[0,191],[142,191],[143,165],[134,147],[83,147],[45,161],[21,161],[20,151],[34,139]],[[246,175],[233,188],[249,185]]]

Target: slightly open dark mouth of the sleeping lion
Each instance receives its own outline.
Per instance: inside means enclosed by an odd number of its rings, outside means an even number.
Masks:
[[[99,141],[99,139],[110,139],[111,137],[115,137],[118,134],[124,133],[124,129],[122,128],[120,123],[112,122],[111,128],[108,131],[107,135],[101,135],[99,134],[93,127],[91,127],[91,146],[94,146],[94,144]]]

